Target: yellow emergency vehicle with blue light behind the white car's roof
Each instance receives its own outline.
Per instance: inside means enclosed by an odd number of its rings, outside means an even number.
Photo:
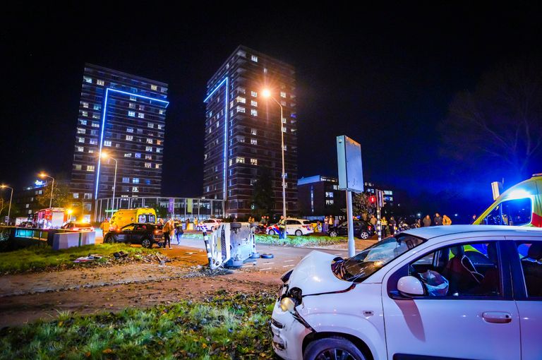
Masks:
[[[473,224],[542,227],[542,173],[500,194]]]

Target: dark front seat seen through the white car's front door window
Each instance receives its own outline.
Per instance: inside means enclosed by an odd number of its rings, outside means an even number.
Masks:
[[[464,294],[476,287],[483,280],[472,261],[465,256],[463,246],[450,248],[454,257],[448,260],[442,275],[450,281],[448,294]]]

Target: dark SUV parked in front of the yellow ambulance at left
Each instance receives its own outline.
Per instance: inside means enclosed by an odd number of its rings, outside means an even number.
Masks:
[[[162,225],[132,223],[105,234],[104,243],[141,244],[144,248],[152,248],[152,244],[162,241],[162,236]]]

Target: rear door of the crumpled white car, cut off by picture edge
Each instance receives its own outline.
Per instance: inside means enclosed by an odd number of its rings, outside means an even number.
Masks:
[[[519,311],[522,360],[541,359],[542,237],[506,236],[510,246],[514,297]]]

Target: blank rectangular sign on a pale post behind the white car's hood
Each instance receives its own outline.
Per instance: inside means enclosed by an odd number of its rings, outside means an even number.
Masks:
[[[348,136],[337,136],[337,164],[339,166],[339,190],[347,191],[348,256],[352,257],[356,255],[352,191],[363,192],[361,145]]]

